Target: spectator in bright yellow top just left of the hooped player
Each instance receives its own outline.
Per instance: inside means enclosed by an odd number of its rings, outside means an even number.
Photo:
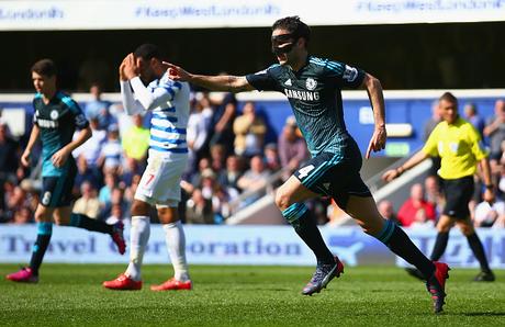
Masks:
[[[142,167],[147,158],[149,137],[149,129],[144,127],[143,116],[135,114],[133,116],[133,126],[125,132],[122,145],[126,157],[135,159]]]

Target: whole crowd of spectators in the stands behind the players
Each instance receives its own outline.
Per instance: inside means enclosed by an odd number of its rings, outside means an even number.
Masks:
[[[74,211],[112,224],[130,216],[130,204],[146,166],[150,116],[149,113],[126,115],[121,103],[101,99],[98,84],[91,86],[90,93],[93,100],[82,109],[93,135],[74,153],[78,167],[72,190]],[[490,147],[498,194],[490,204],[482,201],[482,191],[475,192],[472,218],[479,227],[503,228],[505,102],[496,101],[495,114],[487,121],[472,103],[464,106],[462,115],[482,133]],[[433,117],[426,123],[426,135],[439,121],[434,106]],[[277,142],[267,143],[267,133],[266,119],[258,114],[256,103],[246,102],[239,108],[232,93],[218,100],[205,92],[192,95],[187,128],[189,164],[181,181],[183,222],[222,224],[234,212],[285,181],[310,157],[293,116],[287,119]],[[32,168],[20,166],[22,147],[23,139],[13,138],[5,122],[0,120],[0,223],[33,222],[40,196],[40,167],[36,157]],[[411,198],[397,210],[390,201],[379,203],[381,214],[405,227],[434,228],[444,207],[435,171],[424,184],[412,187]],[[482,185],[478,176],[475,179],[478,185]],[[319,224],[332,223],[341,215],[329,200],[308,205]],[[152,215],[156,222],[156,212]]]

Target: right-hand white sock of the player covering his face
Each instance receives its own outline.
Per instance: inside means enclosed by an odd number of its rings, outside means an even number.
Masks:
[[[165,241],[167,243],[170,261],[173,266],[173,277],[178,281],[190,279],[188,273],[188,263],[186,261],[186,236],[180,221],[170,224],[164,224]]]

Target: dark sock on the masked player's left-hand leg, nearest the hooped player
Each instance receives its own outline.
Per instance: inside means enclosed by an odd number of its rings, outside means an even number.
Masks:
[[[317,263],[335,262],[332,251],[324,243],[315,219],[311,216],[311,212],[305,204],[294,203],[287,210],[282,211],[282,215],[314,252]]]

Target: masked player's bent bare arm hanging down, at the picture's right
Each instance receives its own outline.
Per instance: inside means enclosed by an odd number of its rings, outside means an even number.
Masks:
[[[388,133],[385,131],[385,105],[381,82],[370,74],[364,74],[362,88],[367,90],[375,122],[375,129],[367,149],[366,158],[368,159],[371,151],[378,153],[385,148]]]

